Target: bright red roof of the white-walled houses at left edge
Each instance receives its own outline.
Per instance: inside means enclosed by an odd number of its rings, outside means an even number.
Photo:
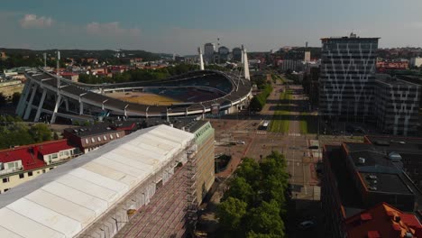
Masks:
[[[23,145],[15,147],[14,149],[1,150],[0,162],[7,163],[15,160],[22,160],[24,170],[37,169],[45,166],[42,155],[71,148],[73,147],[69,146],[66,139]]]

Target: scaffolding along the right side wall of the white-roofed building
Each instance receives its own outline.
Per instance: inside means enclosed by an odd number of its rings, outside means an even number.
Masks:
[[[197,217],[197,146],[194,142],[179,153],[174,175],[157,191],[148,205],[142,206],[119,237],[183,237],[196,225]]]

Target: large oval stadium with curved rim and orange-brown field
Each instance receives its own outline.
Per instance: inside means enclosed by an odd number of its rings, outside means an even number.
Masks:
[[[26,75],[16,114],[38,122],[48,118],[93,120],[104,116],[161,117],[231,114],[252,97],[251,81],[233,72],[197,70],[161,81],[90,85],[39,69]]]

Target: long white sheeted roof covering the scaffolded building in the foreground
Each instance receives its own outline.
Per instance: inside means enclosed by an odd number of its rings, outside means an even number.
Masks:
[[[0,237],[77,235],[193,139],[167,125],[150,127],[11,189],[0,195]]]

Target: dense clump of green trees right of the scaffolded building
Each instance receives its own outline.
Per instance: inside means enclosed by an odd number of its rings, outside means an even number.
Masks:
[[[288,195],[284,156],[273,151],[261,163],[243,159],[219,204],[224,237],[284,237]]]

